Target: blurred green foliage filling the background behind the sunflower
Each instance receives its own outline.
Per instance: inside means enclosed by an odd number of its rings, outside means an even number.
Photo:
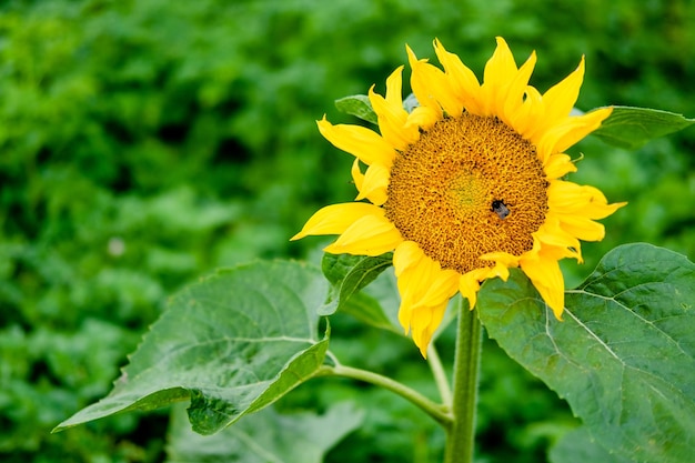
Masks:
[[[439,37],[479,76],[508,41],[538,53],[547,89],[584,53],[577,107],[695,115],[695,3],[687,0],[9,1],[0,6],[0,460],[158,462],[168,414],[121,415],[51,435],[105,395],[168,295],[214,268],[309,258],[290,243],[319,207],[351,200],[349,155],[314,121],[355,123],[333,100],[383,90],[404,43]],[[433,61],[435,61],[433,59]],[[695,255],[695,131],[637,151],[587,139],[573,179],[627,208],[565,265],[647,241]],[[332,350],[434,394],[412,344],[332,318]],[[453,333],[443,334],[451,359]],[[480,460],[537,462],[576,425],[546,387],[485,344]],[[282,410],[353,400],[365,421],[326,457],[435,461],[443,435],[387,392],[321,379]],[[394,419],[395,416],[395,419]]]

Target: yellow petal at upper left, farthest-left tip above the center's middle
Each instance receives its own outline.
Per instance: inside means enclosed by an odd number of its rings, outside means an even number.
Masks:
[[[395,151],[379,133],[360,125],[333,125],[325,115],[316,124],[321,134],[335,148],[349,152],[366,165],[380,163],[391,168]]]

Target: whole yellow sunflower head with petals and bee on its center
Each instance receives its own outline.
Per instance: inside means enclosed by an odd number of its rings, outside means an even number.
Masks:
[[[461,292],[473,309],[481,282],[506,280],[510,268],[521,268],[560,320],[558,260],[581,262],[580,240],[602,240],[595,220],[625,204],[563,180],[576,171],[564,151],[612,111],[572,113],[584,58],[541,94],[528,84],[535,52],[517,68],[502,38],[483,83],[439,40],[434,50],[443,70],[406,47],[419,103],[411,112],[402,100],[403,67],[386,79],[385,97],[370,89],[380,133],[318,121],[324,138],[355,157],[359,194],[319,210],[292,238],[339,234],[325,248],[335,254],[393,251],[399,320],[423,355],[449,300]]]

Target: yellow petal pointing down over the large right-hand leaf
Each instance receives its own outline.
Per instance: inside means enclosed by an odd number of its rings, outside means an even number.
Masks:
[[[535,259],[522,259],[521,268],[526,273],[555,318],[562,320],[565,309],[565,281],[557,260],[543,254]]]

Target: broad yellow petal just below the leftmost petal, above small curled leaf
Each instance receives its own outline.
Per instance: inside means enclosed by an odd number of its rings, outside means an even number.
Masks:
[[[372,205],[372,208],[376,207]],[[383,211],[380,208],[376,209]],[[402,241],[401,233],[383,213],[370,214],[354,221],[324,251],[332,254],[381,255],[393,251]]]

